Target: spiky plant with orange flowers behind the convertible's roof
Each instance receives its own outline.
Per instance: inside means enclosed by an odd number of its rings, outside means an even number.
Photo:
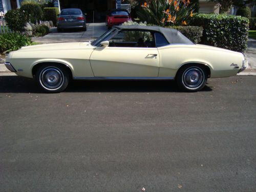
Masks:
[[[189,0],[145,0],[137,14],[147,24],[180,26],[187,25],[195,7]]]

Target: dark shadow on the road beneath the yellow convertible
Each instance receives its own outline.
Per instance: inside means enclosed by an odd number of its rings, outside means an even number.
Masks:
[[[203,92],[212,91],[205,86]],[[65,92],[181,92],[170,80],[73,80]],[[34,79],[0,76],[0,93],[45,93]]]

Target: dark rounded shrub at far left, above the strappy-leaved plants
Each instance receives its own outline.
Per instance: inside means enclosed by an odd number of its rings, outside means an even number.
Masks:
[[[24,31],[25,17],[19,9],[13,9],[5,14],[5,20],[12,31]]]

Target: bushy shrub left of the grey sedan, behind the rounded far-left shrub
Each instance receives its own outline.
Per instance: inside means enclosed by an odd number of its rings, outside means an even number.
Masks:
[[[39,20],[42,20],[44,13],[41,6],[34,2],[23,2],[20,10],[24,12],[26,22],[36,24]]]

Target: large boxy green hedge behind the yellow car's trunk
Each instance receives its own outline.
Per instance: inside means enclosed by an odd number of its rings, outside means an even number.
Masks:
[[[190,22],[203,27],[202,44],[238,52],[247,47],[248,24],[248,18],[224,14],[198,14]]]

